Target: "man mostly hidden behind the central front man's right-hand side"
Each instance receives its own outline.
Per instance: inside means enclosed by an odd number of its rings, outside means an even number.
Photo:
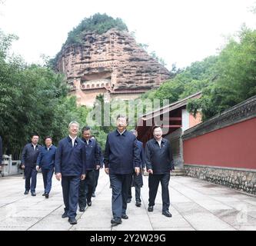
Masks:
[[[138,137],[138,132],[136,130],[131,130],[131,132],[135,135],[135,137]],[[131,186],[128,189],[128,203],[131,202],[131,187],[135,187],[135,201],[136,201],[136,206],[141,207],[141,187],[143,186],[143,178],[142,178],[142,173],[145,171],[145,156],[144,156],[144,148],[143,148],[143,143],[141,141],[137,140],[138,148],[140,150],[140,161],[141,161],[141,171],[139,175],[136,175],[135,172],[132,175],[132,181],[131,181]]]

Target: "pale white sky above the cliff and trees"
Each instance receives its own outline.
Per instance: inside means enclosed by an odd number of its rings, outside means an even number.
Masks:
[[[256,0],[0,0],[0,29],[18,35],[12,52],[38,63],[53,58],[83,18],[106,13],[122,18],[168,69],[185,68],[218,54],[243,23],[255,28],[252,6]]]

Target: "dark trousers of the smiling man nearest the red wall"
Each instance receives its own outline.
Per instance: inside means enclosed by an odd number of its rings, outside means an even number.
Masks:
[[[163,175],[149,175],[148,177],[148,188],[149,188],[149,204],[148,206],[155,205],[155,197],[158,193],[158,185],[161,181],[161,198],[162,198],[162,211],[167,211],[170,207],[170,197],[169,197],[169,181],[170,173]]]

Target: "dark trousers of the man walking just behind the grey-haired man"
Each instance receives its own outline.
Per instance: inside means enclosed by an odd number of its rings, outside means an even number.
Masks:
[[[79,184],[79,208],[86,207],[86,201],[91,201],[92,193],[95,189],[95,170],[87,170],[85,180]]]

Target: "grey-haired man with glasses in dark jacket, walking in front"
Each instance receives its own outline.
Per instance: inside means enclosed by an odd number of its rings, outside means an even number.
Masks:
[[[68,125],[69,136],[59,141],[55,154],[55,176],[58,181],[62,179],[65,204],[62,218],[68,218],[70,224],[77,224],[79,183],[85,179],[86,173],[85,143],[78,138],[78,130],[78,122],[71,121]]]

